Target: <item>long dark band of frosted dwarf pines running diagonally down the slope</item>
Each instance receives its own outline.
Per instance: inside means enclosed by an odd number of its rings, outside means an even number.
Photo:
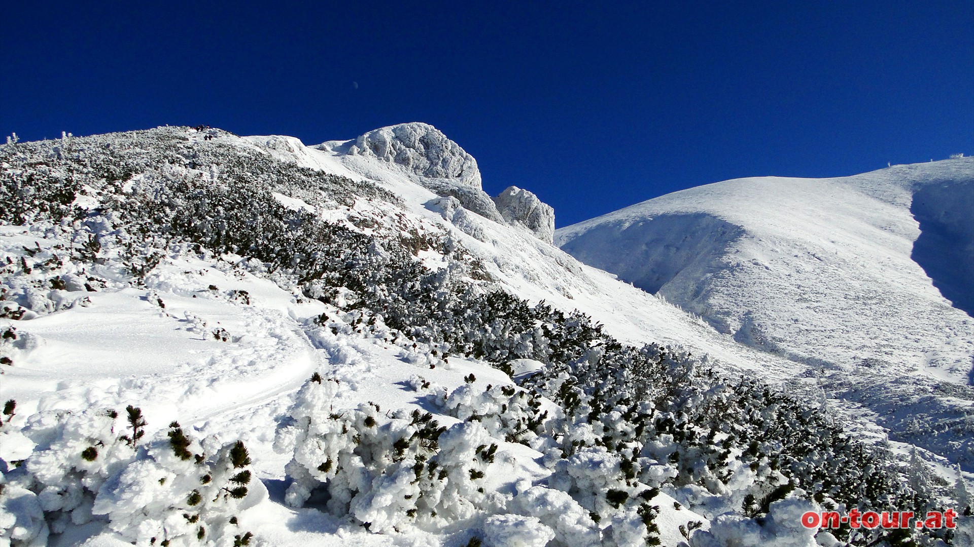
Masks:
[[[104,279],[134,275],[137,283],[169,250],[237,253],[244,267],[288,290],[296,286],[306,298],[343,313],[381,315],[403,346],[424,344],[502,369],[512,359],[542,361],[545,373],[524,387],[564,411],[549,443],[565,458],[604,448],[618,457],[619,477],[629,483],[628,490],[611,489],[628,494],[614,513],[620,524],[612,524],[612,537],[632,529],[624,522],[634,522],[633,512],[652,514],[642,501],[635,505],[637,483],[670,489],[705,514],[761,517],[798,489],[826,508],[925,503],[881,447],[864,447],[800,401],[759,382],[728,382],[679,351],[623,346],[581,312],[530,306],[482,282],[455,241],[418,232],[404,237],[412,234],[408,226],[384,231],[381,218],[359,218],[351,210],[342,222],[322,222],[273,194],[312,206],[350,206],[362,198],[395,202],[374,185],[189,134],[158,128],[0,147],[0,222],[47,223],[45,230],[77,243],[81,250],[72,261],[91,266],[82,279],[86,290],[109,283],[92,272]],[[71,205],[79,196],[97,204],[90,210]],[[424,268],[415,258],[424,248],[441,251],[451,267]],[[13,258],[0,265],[4,272],[36,275],[47,268],[29,256]],[[125,275],[98,274],[116,258],[130,265]],[[60,290],[44,280],[45,290]],[[33,312],[7,306],[2,313],[11,318]],[[367,323],[359,329],[365,334]],[[590,436],[570,437],[577,425],[590,427]],[[590,495],[575,488],[580,498]],[[598,495],[610,506],[621,499],[621,493]],[[880,534],[859,534],[854,542]]]

